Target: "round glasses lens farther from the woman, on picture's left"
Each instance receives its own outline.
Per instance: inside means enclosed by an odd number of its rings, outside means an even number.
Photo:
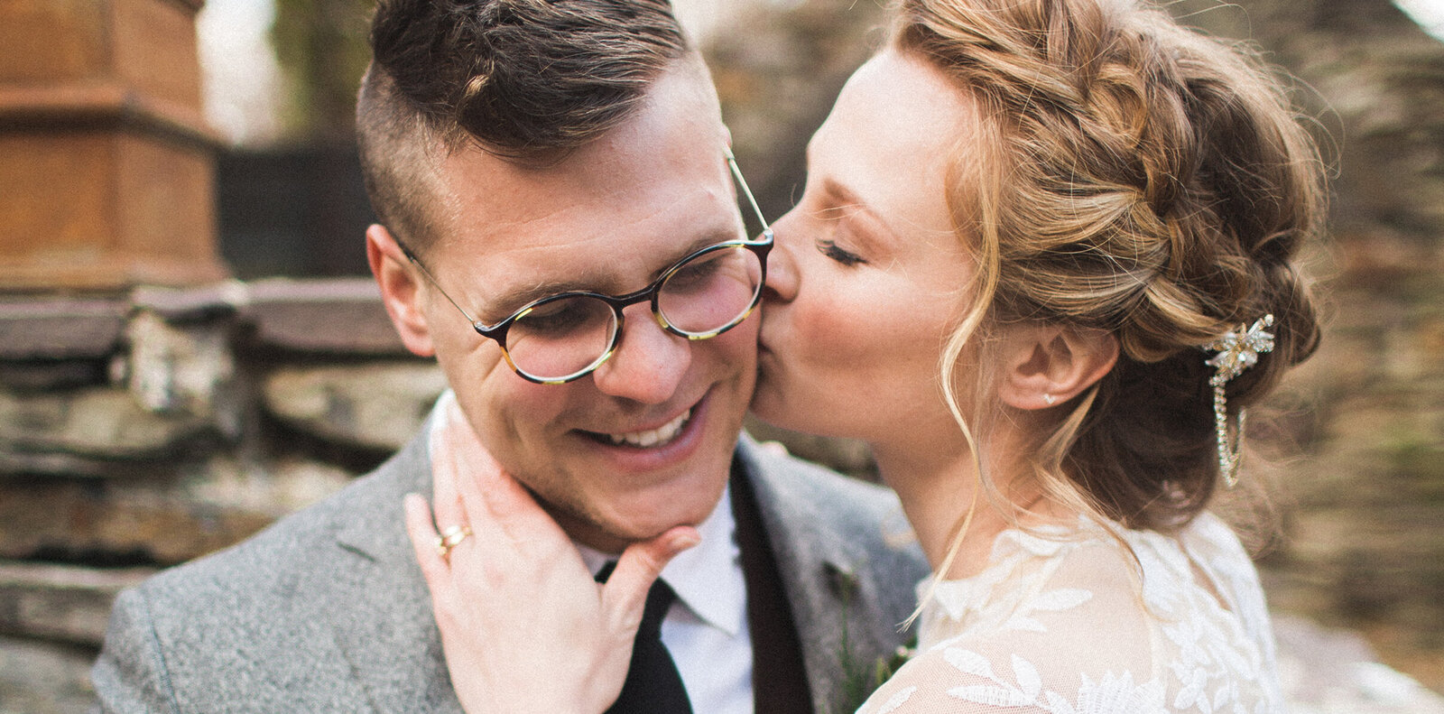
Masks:
[[[531,305],[507,330],[507,354],[518,370],[543,380],[591,367],[606,354],[617,314],[596,298],[566,295]]]

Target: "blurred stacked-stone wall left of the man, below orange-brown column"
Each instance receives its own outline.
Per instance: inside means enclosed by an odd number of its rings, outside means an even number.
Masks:
[[[0,713],[75,713],[114,594],[345,486],[443,389],[368,279],[0,299]]]

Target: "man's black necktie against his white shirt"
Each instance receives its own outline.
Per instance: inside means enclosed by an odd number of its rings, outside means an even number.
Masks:
[[[598,582],[606,582],[615,562],[608,562],[596,574]],[[622,694],[617,697],[606,714],[692,714],[687,688],[682,685],[677,665],[661,643],[661,619],[677,600],[677,594],[657,578],[647,593],[647,607],[632,642],[632,661],[627,669]]]

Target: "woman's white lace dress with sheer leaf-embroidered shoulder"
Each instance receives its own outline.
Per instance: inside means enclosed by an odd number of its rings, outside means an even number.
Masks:
[[[983,572],[939,582],[917,656],[859,714],[1282,713],[1264,591],[1233,532],[1201,515],[1177,536],[1121,533],[1142,568],[1093,523],[1005,530]]]

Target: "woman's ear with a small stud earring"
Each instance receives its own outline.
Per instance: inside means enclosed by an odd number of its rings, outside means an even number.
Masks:
[[[998,396],[1017,409],[1061,405],[1118,363],[1118,338],[1103,330],[1018,325],[1004,338]]]

